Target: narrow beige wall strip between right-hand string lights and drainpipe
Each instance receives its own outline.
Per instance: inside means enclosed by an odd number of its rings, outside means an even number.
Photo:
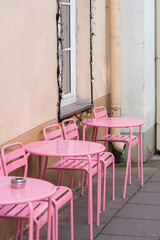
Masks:
[[[96,36],[93,41],[94,56],[94,100],[110,93],[109,79],[109,15],[107,1],[95,2],[94,9],[96,25],[94,27]]]

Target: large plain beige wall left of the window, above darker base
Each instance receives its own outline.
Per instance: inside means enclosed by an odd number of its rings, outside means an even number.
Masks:
[[[0,143],[56,118],[56,2],[0,1]]]

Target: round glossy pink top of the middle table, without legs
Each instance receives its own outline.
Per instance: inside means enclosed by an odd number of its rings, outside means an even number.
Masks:
[[[26,144],[25,150],[40,156],[71,157],[103,152],[102,144],[80,140],[49,140]]]

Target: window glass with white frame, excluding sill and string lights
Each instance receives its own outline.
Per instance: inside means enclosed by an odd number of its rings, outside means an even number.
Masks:
[[[63,107],[76,101],[76,6],[75,0],[61,0],[60,5]]]

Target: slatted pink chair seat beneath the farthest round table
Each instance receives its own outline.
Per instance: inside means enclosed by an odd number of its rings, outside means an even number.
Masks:
[[[108,134],[103,137],[97,138],[96,141],[107,141],[107,142],[126,142],[129,144],[129,135],[113,135]],[[132,136],[131,146],[135,146],[139,142],[138,137]]]

